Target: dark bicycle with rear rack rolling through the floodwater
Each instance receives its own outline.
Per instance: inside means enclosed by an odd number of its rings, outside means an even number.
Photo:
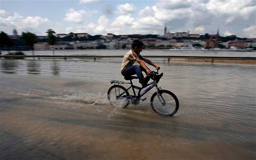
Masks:
[[[126,108],[129,105],[129,103],[140,104],[140,100],[146,100],[146,98],[141,99],[141,97],[155,87],[156,92],[153,93],[150,98],[151,108],[153,109],[153,111],[157,113],[173,116],[179,109],[179,100],[173,92],[158,87],[158,75],[158,70],[157,72],[152,71],[150,78],[153,81],[147,84],[145,89],[142,87],[137,87],[132,83],[132,79],[138,79],[136,76],[125,77],[125,80],[130,81],[130,83],[124,81],[111,80],[110,83],[114,83],[114,85],[109,88],[109,91],[107,91],[107,98],[109,99],[110,104],[114,107],[119,108]],[[160,79],[158,79],[158,81],[159,80]],[[130,84],[131,86],[126,89],[124,86],[121,86],[120,84]],[[134,95],[130,95],[130,88],[132,88]],[[135,89],[139,89],[137,95],[135,93]],[[142,89],[144,90],[142,91]]]

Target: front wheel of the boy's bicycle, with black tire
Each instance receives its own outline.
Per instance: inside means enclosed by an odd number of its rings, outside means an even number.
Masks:
[[[173,116],[179,109],[179,101],[173,92],[160,90],[155,92],[151,99],[152,109],[160,114]]]

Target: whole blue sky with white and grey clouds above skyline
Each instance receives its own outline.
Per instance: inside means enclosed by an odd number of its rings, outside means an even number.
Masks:
[[[1,31],[45,35],[86,32],[91,35],[169,32],[256,38],[256,0],[170,1],[0,1]]]

